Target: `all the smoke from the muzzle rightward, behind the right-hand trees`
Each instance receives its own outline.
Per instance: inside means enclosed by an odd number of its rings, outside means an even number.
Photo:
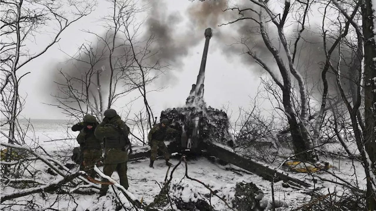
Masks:
[[[199,26],[211,26],[216,31],[213,39],[218,40],[220,43],[220,49],[224,55],[228,58],[238,57],[241,54],[241,61],[251,67],[251,69],[259,70],[259,65],[255,60],[248,54],[242,54],[247,52],[249,49],[256,53],[260,59],[262,59],[274,72],[279,72],[273,55],[267,49],[264,44],[264,40],[259,31],[259,25],[254,20],[259,20],[258,14],[252,12],[251,10],[246,10],[239,14],[238,10],[228,9],[227,0],[206,0],[204,2],[196,1],[195,5],[192,5],[188,9],[188,14],[190,14],[190,20]],[[237,5],[236,7],[240,9],[250,8],[254,11],[259,11],[260,7],[253,4],[250,1]],[[223,12],[223,10],[227,10]],[[237,21],[236,23],[228,24],[226,26],[217,25],[226,24],[230,21],[234,21],[237,18],[244,18],[244,20]],[[215,26],[214,26],[215,25]],[[269,21],[265,24],[267,27],[267,33],[271,43],[279,49],[280,56],[287,61],[286,53],[277,39],[277,29],[276,26]],[[305,26],[306,30],[302,33],[302,38],[297,44],[297,55],[296,55],[296,69],[299,71],[303,77],[306,78],[308,83],[308,89],[313,87],[314,95],[320,96],[322,92],[322,80],[321,80],[321,70],[323,69],[324,63],[326,61],[326,56],[324,52],[324,44],[322,33],[318,28],[308,28]],[[294,30],[291,32],[285,32],[288,38],[297,38],[297,32],[300,30],[300,26],[295,26]],[[234,39],[236,38],[236,39]],[[334,42],[333,38],[327,39],[327,45],[331,45]],[[247,47],[246,47],[247,46]],[[290,51],[293,51],[293,45]],[[349,71],[350,64],[354,60],[354,52],[349,48],[343,48],[341,51],[341,59],[343,65],[341,69],[343,71],[344,77],[343,86],[344,90],[347,92],[350,90],[350,80]],[[339,53],[334,51],[332,54],[332,65],[338,63]],[[346,64],[346,65],[345,65]],[[286,64],[287,65],[287,64]],[[287,65],[288,68],[288,65]],[[352,69],[352,71],[356,71]],[[331,69],[329,69],[327,75],[327,80],[329,83],[329,94],[337,94],[338,89],[336,85],[336,77]],[[291,76],[292,77],[292,76]]]

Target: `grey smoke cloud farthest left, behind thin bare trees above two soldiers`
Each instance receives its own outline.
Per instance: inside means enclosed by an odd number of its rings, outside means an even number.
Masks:
[[[97,77],[99,76],[99,83],[101,85],[100,91],[103,96],[108,95],[109,78],[111,77],[109,47],[111,47],[112,42],[114,42],[114,45],[118,47],[112,52],[112,58],[121,58],[124,60],[130,57],[129,48],[123,46],[123,40],[113,40],[114,32],[112,31],[108,31],[99,36],[103,38],[103,40],[99,38],[91,43],[83,44],[76,55],[52,67],[54,74],[51,80],[48,81],[50,83],[49,87],[53,87],[53,89],[45,91],[50,92],[52,90],[52,95],[59,96],[60,100],[66,103],[68,100],[71,100],[68,99],[69,96],[67,93],[74,93],[76,97],[83,99],[86,98],[83,95],[86,95],[91,101],[96,98],[99,102],[97,83]],[[117,65],[114,65],[114,62],[115,61],[113,61],[113,66],[116,67]],[[101,71],[99,75],[97,75],[97,71]],[[73,91],[68,90],[68,84]],[[88,88],[87,90],[86,86]],[[126,87],[124,87],[124,89],[125,88]],[[74,109],[80,109],[77,103],[69,104]],[[103,106],[106,106],[106,104],[103,104]]]

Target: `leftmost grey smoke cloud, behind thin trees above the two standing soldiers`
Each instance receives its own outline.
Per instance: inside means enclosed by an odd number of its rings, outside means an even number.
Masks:
[[[58,89],[58,87],[64,87],[62,85],[58,84],[67,84],[67,78],[75,78],[74,80],[71,80],[71,84],[73,89],[79,90],[79,92],[82,91],[82,86],[85,86],[82,84],[79,80],[86,80],[86,73],[88,71],[96,71],[96,70],[102,70],[105,69],[100,74],[100,84],[101,84],[101,92],[103,96],[106,96],[109,92],[109,78],[111,77],[110,72],[110,64],[109,64],[109,56],[110,51],[108,47],[106,46],[106,43],[112,44],[112,39],[114,36],[114,33],[111,31],[108,31],[106,33],[103,33],[101,36],[105,41],[101,39],[96,39],[92,43],[88,43],[85,45],[82,45],[80,47],[80,50],[77,52],[77,54],[74,56],[74,58],[68,59],[66,62],[61,62],[56,64],[52,67],[52,71],[54,74],[52,75],[52,78],[50,78],[49,86],[52,89],[46,89],[46,92],[51,92],[52,95],[58,95],[61,97],[64,97],[64,92],[61,91],[61,89]],[[124,42],[120,39],[115,39],[115,46],[121,46]],[[118,47],[115,48],[114,52],[112,53],[113,57],[125,57],[128,53],[127,47]],[[61,71],[65,77],[59,72]],[[99,99],[99,93],[97,90],[97,77],[94,75],[92,77],[92,80],[90,82],[89,86],[89,99],[93,99],[93,96],[95,96],[97,99]],[[79,95],[79,94],[77,94]],[[78,105],[72,105],[72,107],[78,109]],[[106,106],[106,105],[103,105]]]

